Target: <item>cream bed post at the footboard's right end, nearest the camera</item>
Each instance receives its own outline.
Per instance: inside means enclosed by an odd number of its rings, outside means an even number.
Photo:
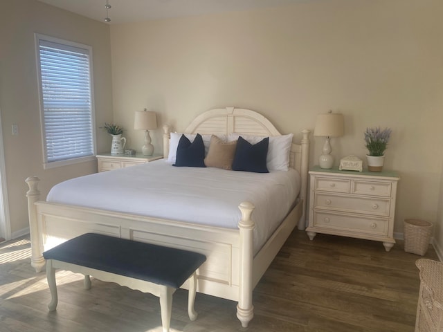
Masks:
[[[237,304],[237,318],[247,327],[254,317],[254,306],[252,305],[253,291],[253,230],[255,224],[251,214],[255,208],[251,202],[242,202],[239,207],[242,212],[242,220],[238,223],[240,230],[239,243],[239,297]]]

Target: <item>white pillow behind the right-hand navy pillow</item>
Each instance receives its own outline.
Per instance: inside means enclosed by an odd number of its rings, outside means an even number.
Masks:
[[[239,133],[231,133],[228,141],[237,140],[242,136],[251,144],[257,144],[266,136],[249,136]],[[266,167],[269,171],[287,171],[289,169],[289,152],[291,151],[293,133],[282,136],[269,136],[268,154]]]

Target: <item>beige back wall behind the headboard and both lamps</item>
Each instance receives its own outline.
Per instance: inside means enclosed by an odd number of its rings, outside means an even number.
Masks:
[[[366,127],[391,127],[385,167],[401,175],[401,236],[405,218],[437,220],[442,15],[440,0],[329,0],[113,25],[114,120],[140,150],[143,133],[132,127],[144,107],[177,131],[207,109],[254,109],[297,140],[332,109],[345,116],[345,136],[332,139],[337,165],[364,158]],[[161,151],[161,129],[152,136]],[[314,165],[324,138],[311,139]]]

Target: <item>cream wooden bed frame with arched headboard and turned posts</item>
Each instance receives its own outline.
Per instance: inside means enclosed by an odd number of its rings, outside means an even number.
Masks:
[[[163,155],[168,158],[170,129],[167,126],[163,129]],[[234,107],[206,111],[197,116],[184,132],[281,135],[273,124],[259,113]],[[255,225],[251,219],[254,205],[250,202],[239,202],[242,220],[238,224],[239,230],[233,230],[39,201],[39,178],[29,177],[26,179],[29,186],[26,196],[32,249],[31,265],[37,272],[41,271],[45,264],[42,255],[44,250],[86,232],[98,232],[201,252],[206,255],[207,260],[198,270],[197,291],[237,301],[237,317],[242,326],[246,327],[253,318],[253,288],[297,223],[300,230],[305,229],[308,157],[309,131],[305,129],[302,131],[301,144],[293,144],[290,155],[290,167],[297,169],[301,176],[297,204],[255,256]]]

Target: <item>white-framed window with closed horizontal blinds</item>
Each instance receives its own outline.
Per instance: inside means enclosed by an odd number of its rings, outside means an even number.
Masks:
[[[36,35],[44,167],[95,155],[90,46]]]

